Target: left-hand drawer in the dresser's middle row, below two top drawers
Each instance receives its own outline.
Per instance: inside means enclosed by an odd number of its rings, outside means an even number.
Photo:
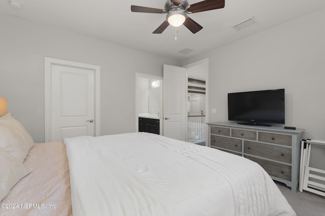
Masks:
[[[242,141],[211,135],[211,146],[242,152]]]

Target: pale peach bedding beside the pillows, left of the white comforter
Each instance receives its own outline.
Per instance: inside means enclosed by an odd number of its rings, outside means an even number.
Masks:
[[[36,143],[24,165],[32,171],[0,202],[5,205],[0,215],[72,216],[69,165],[63,142]]]

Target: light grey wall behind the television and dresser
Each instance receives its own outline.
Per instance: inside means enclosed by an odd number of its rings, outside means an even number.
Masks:
[[[183,61],[209,58],[209,121],[228,120],[227,93],[284,88],[285,125],[325,140],[324,20],[322,9]]]

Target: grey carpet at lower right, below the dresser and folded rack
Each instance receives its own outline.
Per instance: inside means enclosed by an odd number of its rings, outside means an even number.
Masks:
[[[300,193],[291,192],[291,189],[285,184],[275,182],[288,203],[296,211],[297,216],[324,216],[325,215],[325,197],[303,191]]]

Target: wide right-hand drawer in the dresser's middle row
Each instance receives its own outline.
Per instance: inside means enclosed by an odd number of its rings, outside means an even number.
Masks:
[[[244,154],[252,154],[285,163],[291,163],[291,148],[244,141]]]

